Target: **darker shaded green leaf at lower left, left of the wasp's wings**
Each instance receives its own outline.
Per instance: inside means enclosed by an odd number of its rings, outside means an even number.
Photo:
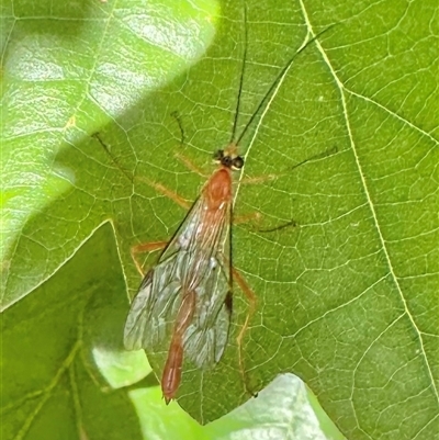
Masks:
[[[112,390],[97,361],[99,350],[112,353],[121,369],[133,363],[122,346],[123,289],[106,225],[55,277],[4,313],[2,438],[120,439],[121,431],[139,437],[125,390]]]

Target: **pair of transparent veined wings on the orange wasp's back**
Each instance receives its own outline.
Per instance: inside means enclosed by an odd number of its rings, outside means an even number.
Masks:
[[[145,277],[125,324],[128,350],[162,351],[169,343],[183,293],[195,291],[195,311],[184,331],[184,356],[198,366],[219,360],[227,343],[232,308],[229,250],[230,205],[206,217],[200,198],[188,213],[158,264]],[[207,223],[209,222],[209,223]]]

